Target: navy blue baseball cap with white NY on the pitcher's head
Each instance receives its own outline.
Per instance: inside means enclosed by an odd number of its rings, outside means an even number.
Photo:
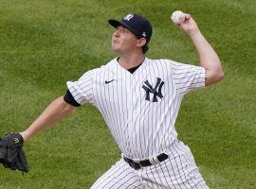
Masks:
[[[110,19],[108,23],[114,27],[124,26],[132,31],[138,38],[145,38],[146,44],[150,42],[152,26],[146,18],[136,13],[127,14],[121,21]]]

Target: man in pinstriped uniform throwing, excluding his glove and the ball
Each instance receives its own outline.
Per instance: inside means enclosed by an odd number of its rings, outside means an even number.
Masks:
[[[136,13],[108,22],[116,28],[112,50],[118,57],[68,81],[66,94],[20,132],[24,141],[76,107],[92,103],[107,123],[121,158],[91,188],[208,188],[189,146],[177,139],[174,123],[185,94],[224,77],[217,54],[189,14],[176,25],[192,39],[199,66],[146,58],[152,26]]]

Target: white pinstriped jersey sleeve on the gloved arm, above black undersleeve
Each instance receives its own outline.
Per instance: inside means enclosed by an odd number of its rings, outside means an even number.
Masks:
[[[93,77],[97,69],[90,70],[82,75],[77,81],[67,81],[66,86],[70,94],[80,105],[86,102],[93,103]]]

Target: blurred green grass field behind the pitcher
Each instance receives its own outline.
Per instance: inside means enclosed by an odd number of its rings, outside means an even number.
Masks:
[[[170,24],[192,14],[218,53],[225,79],[187,94],[176,122],[212,189],[256,188],[255,0],[0,0],[0,135],[22,131],[67,80],[101,66],[114,28],[109,18],[147,17],[154,35],[147,56],[196,64],[191,40]],[[119,160],[100,112],[84,105],[24,147],[29,173],[0,166],[0,188],[89,188]]]

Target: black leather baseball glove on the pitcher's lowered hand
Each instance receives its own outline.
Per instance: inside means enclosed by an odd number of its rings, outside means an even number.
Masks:
[[[22,149],[23,137],[20,133],[9,133],[0,138],[0,163],[11,170],[28,172],[27,159]]]

